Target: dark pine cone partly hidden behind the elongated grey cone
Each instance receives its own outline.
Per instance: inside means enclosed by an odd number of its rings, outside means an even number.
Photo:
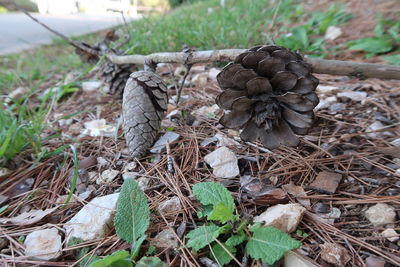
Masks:
[[[122,97],[125,84],[129,79],[129,75],[135,70],[135,65],[116,65],[107,60],[101,66],[100,76],[102,80],[104,80],[109,85],[110,94],[118,94]]]

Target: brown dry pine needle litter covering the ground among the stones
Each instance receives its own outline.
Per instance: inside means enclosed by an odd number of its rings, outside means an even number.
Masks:
[[[163,70],[160,69],[159,72]],[[296,148],[282,146],[272,152],[265,152],[261,144],[247,145],[237,138],[236,131],[223,129],[218,124],[220,116],[218,112],[214,114],[216,116],[211,114],[211,117],[194,115],[197,121],[192,125],[187,125],[182,119],[174,122],[165,119],[167,127],[173,127],[173,131],[181,135],[180,140],[169,144],[168,153],[149,154],[146,158],[134,160],[138,164],[135,171],[140,173],[139,177],[150,178],[149,187],[145,190],[150,209],[154,211],[148,231],[149,241],[151,242],[152,238],[164,229],[176,229],[182,223],[191,229],[199,223],[195,215],[199,204],[192,197],[191,187],[199,182],[218,180],[204,162],[204,156],[216,149],[216,143],[208,146],[200,146],[200,143],[217,133],[223,133],[232,140],[239,140],[240,146],[231,146],[230,149],[239,158],[241,174],[246,173],[263,180],[269,179],[277,188],[293,182],[306,190],[307,196],[303,198],[311,201],[311,207],[308,208],[299,230],[308,234],[308,237],[301,238],[307,257],[318,262],[319,244],[328,242],[338,243],[347,248],[352,255],[351,266],[362,266],[363,259],[368,255],[377,255],[386,262],[399,264],[400,253],[397,245],[379,236],[385,227],[371,225],[365,219],[364,211],[366,207],[376,203],[387,203],[399,210],[399,175],[393,169],[395,158],[393,153],[396,153],[396,149],[390,142],[400,133],[398,125],[395,124],[400,114],[398,106],[400,85],[391,81],[373,79],[359,81],[327,75],[318,75],[318,78],[322,85],[357,88],[367,92],[368,97],[363,102],[340,98],[339,102],[344,103],[345,109],[335,114],[326,108],[318,110],[315,126],[308,135],[300,137],[300,145]],[[189,114],[200,107],[213,105],[218,93],[216,81],[203,87],[185,88],[183,96],[188,96],[188,100],[181,102],[177,107],[171,105],[170,109],[178,109]],[[115,122],[120,115],[119,100],[115,98],[112,102],[106,102],[100,92],[91,95],[77,92],[68,101],[60,103],[55,112],[68,114],[71,110],[81,108],[88,112],[74,117],[72,125],[82,125],[82,122],[95,117]],[[381,132],[386,135],[369,137],[368,126],[377,118],[385,118],[388,121],[387,125],[395,126]],[[101,173],[105,169],[112,168],[122,172],[126,163],[132,161],[128,157],[121,129],[117,140],[114,140],[109,137],[79,137],[79,132],[73,132],[71,125],[58,127],[54,123],[53,127],[45,134],[51,135],[61,131],[64,137],[58,140],[52,139],[46,146],[57,148],[60,143],[75,144],[80,160],[87,157],[103,157],[107,160],[105,166],[96,164],[90,167],[89,171]],[[65,156],[63,154],[52,156],[38,164],[30,162],[29,157],[21,158],[22,167],[14,171],[1,188],[1,194],[12,195],[8,203],[9,208],[3,217],[13,217],[19,214],[22,208],[47,209],[59,203],[58,198],[68,193],[69,177],[73,170],[72,153],[69,150],[66,152]],[[168,157],[173,159],[173,173],[168,171]],[[307,187],[321,171],[343,175],[335,194],[324,194]],[[18,185],[32,177],[35,178],[32,188],[18,193]],[[222,182],[234,193],[239,203],[239,214],[251,218],[269,206],[241,198],[239,178],[225,179]],[[89,199],[79,200],[74,195],[73,201],[68,204],[57,204],[59,208],[56,212],[33,225],[1,225],[1,237],[9,241],[11,250],[10,254],[1,254],[2,261],[5,264],[16,265],[77,266],[79,262],[71,256],[74,249],[86,247],[89,248],[88,254],[93,255],[106,255],[119,249],[128,249],[129,244],[119,240],[112,230],[106,238],[71,247],[64,246],[62,256],[57,262],[40,262],[27,259],[24,256],[23,245],[18,242],[21,236],[48,225],[57,227],[61,232],[64,231],[63,223],[91,198],[114,193],[121,184],[121,176],[109,184],[97,185],[94,181],[89,181],[87,186],[91,185],[94,188]],[[158,213],[159,204],[173,196],[177,196],[182,203],[179,213],[165,215]],[[291,202],[298,202],[296,198],[288,197]],[[333,224],[318,220],[315,215],[313,216],[312,208],[316,203],[338,208],[341,211],[340,217]],[[399,225],[396,224],[394,229],[399,230]],[[191,251],[185,248],[185,241],[184,235],[178,238],[179,248],[176,253],[167,249],[158,251],[157,255],[170,266],[185,264],[200,266],[201,255],[192,255]],[[146,246],[149,246],[149,243],[145,243]],[[256,263],[250,261],[249,266],[256,266]]]

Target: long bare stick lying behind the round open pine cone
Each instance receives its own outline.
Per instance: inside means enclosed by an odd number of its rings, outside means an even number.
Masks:
[[[184,52],[154,53],[150,55],[117,56],[108,54],[107,58],[114,64],[144,64],[146,59],[155,63],[205,63],[232,61],[245,49],[223,49],[192,52],[187,59]],[[400,67],[383,64],[360,63],[352,61],[305,58],[312,65],[314,73],[357,76],[359,78],[379,78],[400,80]]]

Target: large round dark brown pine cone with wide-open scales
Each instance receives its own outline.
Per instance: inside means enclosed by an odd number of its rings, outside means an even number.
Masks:
[[[295,134],[306,134],[312,125],[319,81],[298,53],[256,46],[225,66],[217,80],[223,90],[217,104],[228,111],[220,123],[243,129],[244,141],[260,139],[269,149],[296,146]]]

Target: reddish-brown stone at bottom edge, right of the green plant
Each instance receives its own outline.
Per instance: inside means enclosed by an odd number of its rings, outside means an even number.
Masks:
[[[347,262],[350,261],[351,256],[347,252],[347,249],[336,243],[325,243],[321,244],[321,258],[332,263],[337,267],[346,266]]]

